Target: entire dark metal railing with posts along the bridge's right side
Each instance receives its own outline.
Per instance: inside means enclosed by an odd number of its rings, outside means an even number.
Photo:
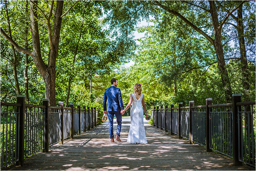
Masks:
[[[232,103],[212,104],[212,98],[206,99],[206,105],[178,108],[168,106],[151,107],[153,125],[178,138],[189,139],[190,144],[197,143],[233,158],[234,165],[244,162],[255,167],[255,101],[241,102],[241,94],[233,94]],[[163,117],[164,116],[164,117]],[[164,125],[164,126],[163,126]]]

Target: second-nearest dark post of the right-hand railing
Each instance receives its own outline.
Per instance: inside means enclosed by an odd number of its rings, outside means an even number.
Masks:
[[[211,152],[210,149],[210,110],[209,105],[212,105],[213,98],[208,98],[206,100],[206,152]]]

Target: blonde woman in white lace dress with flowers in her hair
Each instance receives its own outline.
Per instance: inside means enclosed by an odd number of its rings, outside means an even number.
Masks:
[[[130,107],[133,103],[131,108],[131,126],[127,138],[128,143],[140,143],[146,144],[147,138],[145,134],[144,122],[143,122],[143,109],[145,111],[146,117],[146,105],[144,95],[141,93],[142,88],[141,84],[136,83],[133,87],[134,93],[130,94],[130,101],[127,104],[126,108],[121,111],[122,114]],[[142,106],[141,106],[142,103]],[[143,109],[142,109],[143,107]]]

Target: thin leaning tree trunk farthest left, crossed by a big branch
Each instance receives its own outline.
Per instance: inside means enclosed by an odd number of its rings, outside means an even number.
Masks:
[[[8,13],[8,8],[7,8],[7,1],[5,1],[5,13],[6,13],[6,19],[7,19],[7,24],[8,24],[8,32],[9,32],[9,37],[12,39],[12,30],[11,30],[11,25],[10,25],[10,20],[9,20],[9,13]],[[19,88],[19,80],[17,76],[17,56],[16,56],[16,51],[14,46],[11,43],[12,47],[12,56],[13,56],[13,76],[14,76],[14,81],[16,85],[16,93],[20,94],[20,88]]]

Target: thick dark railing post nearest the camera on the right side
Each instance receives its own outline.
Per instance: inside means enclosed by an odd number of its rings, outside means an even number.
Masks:
[[[233,121],[233,159],[234,159],[234,165],[239,166],[241,165],[241,162],[239,161],[238,156],[238,150],[241,150],[241,147],[239,147],[239,131],[238,129],[238,109],[237,109],[237,103],[241,102],[241,93],[232,94],[232,103],[233,103],[233,115],[232,115],[232,121]],[[240,143],[241,144],[241,143]]]

